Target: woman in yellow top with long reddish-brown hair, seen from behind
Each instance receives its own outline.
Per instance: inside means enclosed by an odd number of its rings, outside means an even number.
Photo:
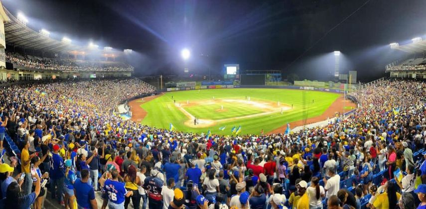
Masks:
[[[126,197],[124,201],[124,208],[127,209],[132,199],[134,206],[139,206],[141,204],[141,196],[139,195],[138,186],[142,185],[141,179],[136,175],[136,167],[130,165],[127,171],[127,175],[124,177],[125,188],[128,191],[133,191],[133,196]]]

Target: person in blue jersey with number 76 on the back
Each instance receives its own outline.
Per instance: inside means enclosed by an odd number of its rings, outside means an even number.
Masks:
[[[119,173],[117,170],[111,172],[111,179],[104,183],[104,191],[108,193],[108,208],[124,209],[125,197],[133,195],[133,191],[127,191],[124,183],[118,181]]]

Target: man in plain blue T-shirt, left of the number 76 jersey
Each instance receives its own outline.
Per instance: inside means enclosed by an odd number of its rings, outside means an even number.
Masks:
[[[89,183],[89,170],[81,170],[81,179],[74,182],[74,194],[79,209],[97,209],[95,191]]]

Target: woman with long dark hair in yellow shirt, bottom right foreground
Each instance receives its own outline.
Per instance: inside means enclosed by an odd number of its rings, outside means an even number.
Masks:
[[[384,193],[377,196],[372,209],[394,209],[398,204],[398,200],[401,198],[401,195],[397,193],[397,188],[395,183],[388,181],[385,184]]]

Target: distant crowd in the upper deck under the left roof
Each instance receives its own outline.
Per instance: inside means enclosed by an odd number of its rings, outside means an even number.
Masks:
[[[38,58],[14,52],[6,52],[6,61],[25,68],[39,70],[79,72],[133,72],[135,70],[131,65],[122,62]]]

